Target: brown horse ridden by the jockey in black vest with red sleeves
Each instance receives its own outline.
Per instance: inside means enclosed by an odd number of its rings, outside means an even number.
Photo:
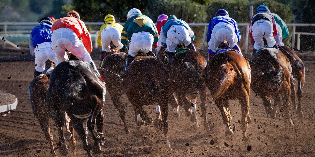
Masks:
[[[276,101],[282,98],[285,121],[294,126],[289,115],[292,71],[289,59],[276,48],[265,48],[255,53],[251,60],[256,63],[251,66],[251,89],[261,97],[266,113],[272,118],[278,116],[268,96],[272,95]]]

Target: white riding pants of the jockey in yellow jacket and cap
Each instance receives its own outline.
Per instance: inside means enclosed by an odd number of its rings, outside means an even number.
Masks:
[[[100,40],[102,42],[102,51],[109,52],[111,50],[111,42],[116,46],[117,50],[123,48],[123,44],[120,42],[121,32],[114,26],[107,26],[100,33]]]

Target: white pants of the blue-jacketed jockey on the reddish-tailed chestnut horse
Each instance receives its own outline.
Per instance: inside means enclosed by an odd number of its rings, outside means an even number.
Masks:
[[[238,42],[238,38],[233,26],[220,22],[212,29],[211,39],[208,42],[208,49],[215,52],[223,41],[227,41],[231,47],[234,47]]]

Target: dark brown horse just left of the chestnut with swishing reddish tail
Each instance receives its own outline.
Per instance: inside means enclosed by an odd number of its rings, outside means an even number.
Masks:
[[[174,82],[174,92],[178,103],[183,106],[186,116],[191,116],[191,122],[197,122],[196,102],[197,94],[200,93],[201,112],[204,127],[208,127],[207,122],[207,91],[203,79],[203,70],[207,61],[194,50],[184,50],[177,53],[167,65],[171,78]],[[179,114],[178,106],[172,106],[175,114]]]

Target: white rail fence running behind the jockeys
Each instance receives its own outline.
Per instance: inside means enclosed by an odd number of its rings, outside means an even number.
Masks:
[[[35,27],[38,23],[37,22],[0,22],[0,26],[3,26],[3,32],[1,32],[0,34],[3,34],[2,36],[0,36],[0,38],[6,38],[7,35],[9,34],[30,34],[31,30],[25,30],[25,26],[33,26]],[[87,26],[91,25],[91,26],[101,26],[104,23],[102,22],[86,22],[85,23]],[[124,23],[120,23],[120,24],[124,24]],[[9,26],[15,26],[18,27],[18,29],[20,30],[14,30],[14,31],[9,31],[8,27]],[[207,31],[208,31],[208,23],[189,23],[189,26],[191,27],[195,27],[195,26],[199,26],[199,27],[203,27],[203,40],[202,40],[202,46],[203,48],[208,47],[208,43],[206,43],[205,41],[207,41]],[[249,46],[249,24],[248,23],[239,23],[238,24],[239,27],[245,27],[246,30],[243,31],[243,35],[242,35],[242,40],[243,40],[243,52],[247,52],[248,50],[248,46]],[[300,49],[300,41],[301,41],[301,35],[315,35],[315,33],[309,33],[309,32],[296,32],[296,27],[315,27],[315,24],[287,24],[287,26],[292,27],[292,47],[295,47],[295,35],[297,35],[297,49]],[[20,28],[19,28],[20,27]],[[92,30],[90,31],[91,34],[95,33],[95,48],[98,47],[97,42],[96,42],[96,38],[98,36],[99,30]],[[10,42],[8,40],[4,41],[3,40],[3,48],[5,48],[6,43],[18,48],[13,42]]]

